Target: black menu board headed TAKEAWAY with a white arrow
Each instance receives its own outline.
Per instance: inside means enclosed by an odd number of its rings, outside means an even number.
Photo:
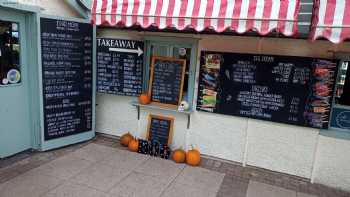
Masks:
[[[97,38],[97,92],[139,96],[142,68],[143,42]]]

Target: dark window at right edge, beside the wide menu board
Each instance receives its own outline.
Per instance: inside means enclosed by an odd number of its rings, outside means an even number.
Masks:
[[[350,106],[350,61],[340,63],[336,91],[335,103]]]

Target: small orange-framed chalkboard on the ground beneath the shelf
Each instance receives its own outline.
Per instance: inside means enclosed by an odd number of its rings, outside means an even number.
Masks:
[[[174,119],[171,117],[149,115],[147,138],[151,142],[170,145]]]

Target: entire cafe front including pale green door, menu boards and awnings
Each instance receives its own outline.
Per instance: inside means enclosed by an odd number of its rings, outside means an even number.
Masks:
[[[0,4],[0,157],[166,117],[172,149],[350,190],[349,3],[81,2]]]

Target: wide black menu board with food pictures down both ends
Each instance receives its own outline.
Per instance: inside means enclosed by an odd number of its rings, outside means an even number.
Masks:
[[[197,110],[327,128],[336,62],[202,52]]]

